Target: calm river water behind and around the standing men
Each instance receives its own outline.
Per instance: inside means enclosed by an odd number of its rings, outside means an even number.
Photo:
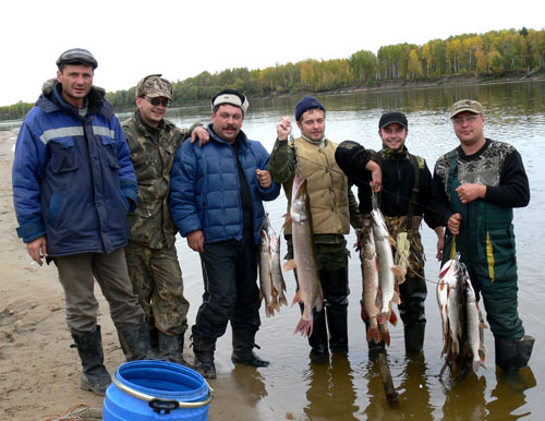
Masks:
[[[456,100],[473,98],[486,110],[487,137],[511,143],[522,155],[530,178],[530,205],[514,212],[514,227],[519,263],[519,312],[526,333],[536,338],[531,366],[518,378],[497,376],[494,364],[494,339],[485,332],[488,349],[487,370],[457,381],[447,369],[443,376],[441,327],[435,298],[435,281],[439,270],[435,261],[435,233],[425,226],[423,242],[427,252],[426,300],[427,328],[424,356],[408,359],[404,356],[401,324],[391,327],[391,347],[388,361],[393,385],[399,394],[399,406],[390,407],[385,398],[376,363],[370,361],[360,318],[361,272],[358,255],[350,260],[350,304],[348,357],[332,354],[327,363],[317,364],[308,357],[305,338],[293,336],[300,318],[296,306],[282,308],[275,317],[267,318],[262,308],[262,328],[256,342],[261,356],[270,360],[266,369],[234,366],[230,361],[230,330],[218,340],[216,360],[218,378],[211,382],[218,393],[232,390],[242,396],[245,411],[238,419],[247,420],[535,420],[543,417],[545,401],[545,359],[541,346],[545,337],[545,302],[543,284],[543,246],[538,240],[545,234],[545,82],[488,84],[462,87],[397,89],[391,92],[324,95],[318,98],[327,108],[326,134],[335,142],[354,140],[370,148],[379,148],[377,122],[387,110],[399,110],[409,119],[409,151],[426,158],[433,170],[436,159],[458,145],[448,108]],[[293,116],[300,97],[255,100],[250,105],[243,130],[250,139],[258,140],[271,151],[276,139],[276,123],[281,116]],[[209,122],[207,106],[187,107],[170,111],[169,118],[180,127],[194,121]],[[292,117],[293,120],[293,117]],[[295,130],[295,133],[298,131]],[[274,228],[278,231],[286,213],[286,197],[265,204]],[[355,238],[349,234],[349,244]],[[178,241],[185,294],[191,302],[190,324],[195,320],[203,293],[198,255],[185,240]],[[282,243],[282,253],[286,244]],[[291,273],[284,274],[288,299],[294,294]],[[234,395],[233,395],[234,396]],[[214,405],[214,404],[213,404]],[[249,411],[247,408],[251,408]]]

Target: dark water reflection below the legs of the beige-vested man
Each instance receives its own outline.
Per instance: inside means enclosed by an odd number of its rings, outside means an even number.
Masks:
[[[358,420],[353,374],[347,356],[334,352],[329,361],[311,359],[305,376],[310,380],[303,411],[313,421]]]

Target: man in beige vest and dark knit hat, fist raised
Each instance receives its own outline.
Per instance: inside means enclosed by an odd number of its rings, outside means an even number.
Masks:
[[[337,144],[325,136],[326,109],[316,98],[303,97],[295,107],[295,120],[301,137],[288,141],[291,123],[283,117],[277,125],[278,139],[270,154],[268,170],[276,183],[282,183],[291,206],[291,188],[295,168],[306,179],[314,228],[314,244],[319,269],[324,309],[314,310],[314,325],[308,344],[317,356],[325,356],[329,348],[340,352],[348,350],[348,255],[344,236],[361,229],[362,219],[358,202],[350,190],[348,179],[335,161]],[[368,169],[377,169],[370,161]],[[374,172],[379,185],[378,172]],[[287,258],[293,257],[291,227],[286,227]],[[296,278],[295,278],[296,279]]]

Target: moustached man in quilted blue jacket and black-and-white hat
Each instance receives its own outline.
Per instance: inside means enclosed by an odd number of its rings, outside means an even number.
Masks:
[[[198,252],[205,292],[193,326],[195,369],[216,377],[216,339],[231,322],[231,360],[266,366],[253,352],[259,329],[257,251],[265,212],[280,187],[266,170],[269,155],[241,131],[247,99],[225,89],[211,99],[210,141],[184,142],[170,178],[170,212],[189,246]]]

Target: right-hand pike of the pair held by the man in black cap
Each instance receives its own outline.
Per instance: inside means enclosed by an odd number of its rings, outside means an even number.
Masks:
[[[393,264],[393,254],[391,246],[395,240],[388,233],[388,228],[383,214],[378,208],[371,212],[373,219],[373,234],[375,237],[375,248],[378,256],[378,284],[383,294],[383,305],[378,315],[378,323],[383,324],[390,321],[393,325],[397,323],[397,316],[391,304],[401,303],[399,297],[398,282],[396,277],[404,279],[404,272],[401,267]]]

